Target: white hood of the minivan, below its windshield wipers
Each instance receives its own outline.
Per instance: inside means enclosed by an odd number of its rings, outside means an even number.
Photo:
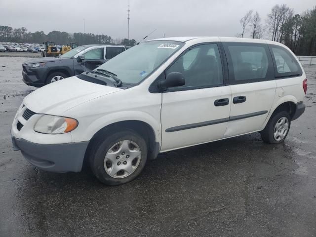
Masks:
[[[24,98],[23,103],[35,113],[62,116],[65,111],[82,103],[122,90],[81,80],[74,76],[33,91]]]

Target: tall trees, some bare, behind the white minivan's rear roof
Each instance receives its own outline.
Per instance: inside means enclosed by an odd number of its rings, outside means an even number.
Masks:
[[[296,55],[316,55],[316,7],[302,14],[286,4],[276,4],[261,23],[258,12],[252,10],[240,18],[241,33],[237,37],[268,39],[285,44]]]

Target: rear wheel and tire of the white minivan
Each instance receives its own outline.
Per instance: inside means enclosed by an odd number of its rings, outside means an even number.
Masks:
[[[275,112],[269,119],[265,129],[263,129],[260,132],[261,138],[264,142],[267,142],[267,143],[271,143],[271,144],[281,143],[286,138],[290,130],[290,127],[291,127],[290,115],[285,111]]]

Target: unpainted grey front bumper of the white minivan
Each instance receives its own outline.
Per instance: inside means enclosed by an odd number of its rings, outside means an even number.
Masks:
[[[80,172],[88,146],[86,142],[38,144],[12,136],[13,150],[39,169],[57,173]]]

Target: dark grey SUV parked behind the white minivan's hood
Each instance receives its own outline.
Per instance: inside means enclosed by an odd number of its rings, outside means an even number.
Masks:
[[[74,48],[60,57],[34,58],[22,64],[23,81],[40,87],[91,71],[125,50],[121,45],[91,44]]]

